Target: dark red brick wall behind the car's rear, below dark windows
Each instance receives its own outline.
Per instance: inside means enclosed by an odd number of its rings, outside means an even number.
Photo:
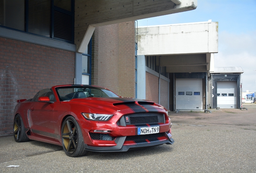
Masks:
[[[74,60],[74,52],[0,37],[0,136],[12,134],[18,99],[74,83]]]

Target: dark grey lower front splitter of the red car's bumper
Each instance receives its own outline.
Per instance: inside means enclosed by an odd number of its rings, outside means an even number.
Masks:
[[[132,148],[152,147],[152,146],[157,146],[162,144],[171,145],[174,143],[174,140],[169,136],[170,134],[167,134],[165,132],[165,137],[167,138],[166,140],[153,141],[149,143],[137,143],[135,145],[124,145],[124,142],[126,140],[126,136],[124,136],[124,137],[117,137],[115,139],[116,145],[112,147],[93,147],[87,144],[84,144],[84,147],[88,151],[95,151],[95,152],[121,152],[121,151],[128,151],[129,149],[132,149]]]

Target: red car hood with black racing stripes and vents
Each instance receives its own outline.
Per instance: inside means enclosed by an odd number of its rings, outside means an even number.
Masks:
[[[151,101],[123,98],[123,97],[90,97],[83,99],[72,99],[70,103],[85,105],[93,109],[95,113],[114,114],[120,113],[141,113],[141,112],[165,112],[166,109]]]

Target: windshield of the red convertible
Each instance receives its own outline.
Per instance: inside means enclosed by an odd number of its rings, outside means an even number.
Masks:
[[[89,97],[118,97],[112,91],[101,87],[92,86],[68,86],[56,88],[60,101]]]

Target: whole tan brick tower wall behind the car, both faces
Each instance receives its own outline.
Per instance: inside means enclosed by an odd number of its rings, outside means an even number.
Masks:
[[[95,28],[91,84],[135,97],[134,22]]]

